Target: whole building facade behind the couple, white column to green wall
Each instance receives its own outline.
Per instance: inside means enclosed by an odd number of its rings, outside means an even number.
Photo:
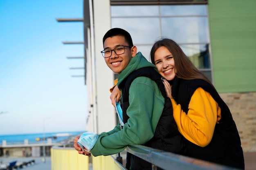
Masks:
[[[159,38],[180,44],[229,106],[244,151],[256,151],[255,8],[255,0],[84,0],[87,130],[106,132],[117,122],[109,97],[116,75],[100,51],[106,31],[120,27],[148,60]]]

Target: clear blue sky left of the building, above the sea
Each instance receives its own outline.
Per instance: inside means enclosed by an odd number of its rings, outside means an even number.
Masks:
[[[83,0],[0,0],[0,135],[84,131]]]

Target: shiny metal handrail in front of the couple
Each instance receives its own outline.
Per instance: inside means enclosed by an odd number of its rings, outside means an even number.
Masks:
[[[239,170],[142,145],[129,145],[125,150],[152,163],[152,170],[156,169],[156,166],[164,170]]]

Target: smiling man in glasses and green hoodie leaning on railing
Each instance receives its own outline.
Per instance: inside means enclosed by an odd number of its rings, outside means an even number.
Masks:
[[[108,67],[114,73],[119,74],[117,86],[120,89],[124,89],[123,86],[127,83],[127,78],[131,73],[138,71],[140,68],[151,68],[153,70],[152,72],[157,73],[155,65],[148,62],[140,52],[137,53],[137,47],[133,45],[130,34],[124,29],[110,29],[104,35],[103,51],[101,51],[101,53]],[[160,75],[159,79],[161,81]],[[124,98],[128,98],[128,101],[124,101]],[[116,154],[123,151],[126,146],[130,144],[139,144],[164,150],[164,148],[161,147],[166,141],[162,140],[165,139],[165,137],[162,136],[162,131],[166,133],[166,136],[169,135],[169,139],[170,134],[168,132],[173,132],[174,128],[167,126],[167,129],[162,130],[162,128],[158,126],[158,122],[165,124],[159,121],[160,118],[163,120],[162,113],[165,108],[165,98],[157,86],[157,83],[151,78],[144,76],[133,79],[129,86],[128,97],[124,96],[124,91],[122,90],[120,102],[123,110],[124,126],[120,129],[119,124],[110,132],[99,134],[98,140],[91,149],[91,154],[94,156]],[[170,110],[166,113],[171,117],[171,102],[168,109]],[[170,123],[170,117],[165,117],[164,121]],[[171,128],[172,130],[170,130]],[[177,130],[175,132],[178,133]],[[171,135],[173,135],[173,133]],[[75,149],[80,154],[90,156],[90,152],[82,150],[77,144],[78,139],[79,137],[74,140]],[[179,148],[179,146],[174,144],[171,146],[175,146],[173,147],[175,149]],[[169,151],[175,150],[170,147],[170,144],[168,144],[168,147],[171,149],[168,149]],[[152,169],[150,163],[134,155],[131,155],[126,161],[127,169]]]

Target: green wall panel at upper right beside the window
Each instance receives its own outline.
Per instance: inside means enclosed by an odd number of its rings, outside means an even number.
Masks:
[[[256,91],[256,0],[209,0],[214,85]]]

